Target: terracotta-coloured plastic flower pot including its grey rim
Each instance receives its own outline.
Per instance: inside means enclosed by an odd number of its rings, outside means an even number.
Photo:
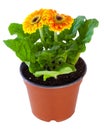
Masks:
[[[63,121],[72,116],[75,111],[79,86],[86,72],[86,65],[83,76],[70,84],[56,87],[42,86],[28,81],[23,74],[24,67],[24,63],[22,63],[20,70],[27,86],[33,114],[44,121]]]

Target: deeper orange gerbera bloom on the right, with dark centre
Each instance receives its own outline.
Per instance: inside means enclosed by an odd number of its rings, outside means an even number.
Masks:
[[[64,29],[70,29],[74,19],[71,16],[64,14],[55,14],[51,22],[49,22],[50,30],[60,32]]]

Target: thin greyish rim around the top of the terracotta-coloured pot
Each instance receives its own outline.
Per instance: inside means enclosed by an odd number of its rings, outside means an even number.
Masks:
[[[82,58],[81,58],[82,59]],[[85,64],[85,71],[83,73],[82,76],[80,76],[78,79],[76,79],[75,81],[73,82],[70,82],[70,83],[67,83],[65,85],[56,85],[56,86],[47,86],[47,85],[42,85],[42,84],[37,84],[37,83],[34,83],[32,81],[29,81],[28,79],[25,78],[25,76],[23,75],[22,73],[22,65],[23,65],[23,62],[21,63],[20,65],[20,74],[23,78],[23,80],[25,82],[27,82],[28,84],[32,85],[33,87],[39,87],[39,88],[44,88],[44,89],[58,89],[58,88],[65,88],[65,87],[70,87],[72,86],[73,84],[76,84],[77,82],[81,81],[83,79],[83,77],[85,76],[86,74],[86,71],[87,71],[87,65],[85,63],[85,61],[82,59],[83,63]]]

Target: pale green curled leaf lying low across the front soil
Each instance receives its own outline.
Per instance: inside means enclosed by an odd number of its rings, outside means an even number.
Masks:
[[[48,71],[48,70],[43,70],[43,71],[36,71],[34,75],[36,77],[40,77],[43,75],[44,81],[46,81],[47,78],[54,77],[57,78],[58,75],[62,74],[69,74],[73,71],[75,71],[75,67],[72,65],[62,65],[57,70],[55,71]]]

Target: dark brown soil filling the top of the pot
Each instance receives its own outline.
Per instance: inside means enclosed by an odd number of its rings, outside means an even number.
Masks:
[[[43,85],[43,86],[60,86],[65,85],[69,83],[73,83],[74,81],[78,80],[79,78],[82,78],[86,72],[86,64],[83,61],[82,58],[79,58],[77,64],[76,64],[76,72],[72,72],[70,74],[63,74],[59,75],[57,79],[55,78],[48,78],[46,81],[43,81],[43,77],[35,77],[33,74],[31,74],[28,70],[28,67],[25,63],[21,64],[20,67],[22,76],[29,80],[32,83]]]

